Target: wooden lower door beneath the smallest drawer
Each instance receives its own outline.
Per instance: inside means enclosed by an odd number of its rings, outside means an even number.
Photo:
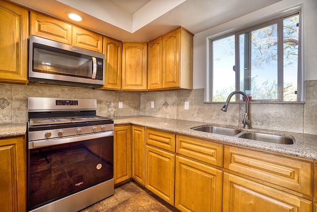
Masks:
[[[145,187],[174,205],[175,154],[146,146]]]

